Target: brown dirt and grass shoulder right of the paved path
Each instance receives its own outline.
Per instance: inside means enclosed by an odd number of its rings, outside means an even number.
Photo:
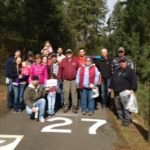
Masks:
[[[126,147],[117,145],[117,150],[150,150],[148,144],[148,131],[144,128],[143,119],[138,115],[133,115],[133,123],[129,127],[123,127],[112,111],[108,111],[112,119],[113,128],[127,142]]]

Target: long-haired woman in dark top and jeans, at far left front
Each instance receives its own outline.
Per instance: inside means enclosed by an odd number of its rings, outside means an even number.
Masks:
[[[10,72],[14,92],[14,110],[18,112],[24,107],[23,93],[28,80],[28,76],[22,74],[22,59],[20,57],[16,58],[15,62],[11,65]]]

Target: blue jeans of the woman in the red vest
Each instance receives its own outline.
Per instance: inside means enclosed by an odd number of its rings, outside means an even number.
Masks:
[[[81,91],[81,108],[82,112],[94,112],[94,99],[91,89],[83,88]]]

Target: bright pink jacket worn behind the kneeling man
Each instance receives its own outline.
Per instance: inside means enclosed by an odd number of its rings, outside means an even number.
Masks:
[[[44,64],[32,64],[30,68],[29,83],[31,83],[32,76],[37,75],[39,77],[39,83],[44,84],[48,79],[48,71]]]

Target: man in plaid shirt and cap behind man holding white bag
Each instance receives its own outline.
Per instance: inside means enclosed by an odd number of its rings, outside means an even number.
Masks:
[[[112,61],[112,70],[113,70],[113,72],[114,72],[114,70],[119,68],[120,58],[125,58],[127,60],[127,65],[132,69],[134,68],[133,62],[125,55],[124,47],[119,47],[118,48],[118,56],[116,58],[114,58],[113,61]]]

